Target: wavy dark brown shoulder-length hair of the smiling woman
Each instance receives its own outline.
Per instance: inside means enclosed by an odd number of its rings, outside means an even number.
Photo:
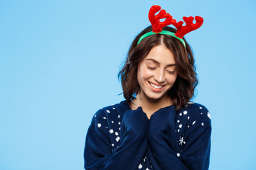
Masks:
[[[169,26],[164,27],[163,30],[169,30],[176,33],[175,28]],[[124,66],[119,71],[118,77],[122,83],[124,98],[128,103],[136,98],[140,86],[137,80],[138,64],[146,55],[149,54],[152,47],[156,45],[164,45],[174,54],[176,60],[176,72],[178,74],[174,86],[167,92],[171,98],[173,106],[176,111],[186,107],[186,103],[193,97],[195,88],[198,84],[196,67],[194,65],[193,53],[188,42],[183,38],[186,43],[186,48],[183,43],[171,35],[154,34],[144,38],[139,44],[139,38],[152,31],[151,26],[142,30],[139,35],[132,42],[129,52],[127,54]]]

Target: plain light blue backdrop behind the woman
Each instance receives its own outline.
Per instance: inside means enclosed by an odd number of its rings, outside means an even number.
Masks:
[[[210,169],[256,169],[255,0],[0,1],[0,169],[83,169],[99,108],[123,100],[117,73],[157,4],[186,35],[199,77],[193,101],[213,123]]]

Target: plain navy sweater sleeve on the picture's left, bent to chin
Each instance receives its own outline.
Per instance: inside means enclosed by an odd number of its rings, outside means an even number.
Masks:
[[[92,120],[85,140],[85,169],[137,169],[147,147],[149,120],[141,108],[127,111],[121,124],[119,147],[112,150],[109,134]]]

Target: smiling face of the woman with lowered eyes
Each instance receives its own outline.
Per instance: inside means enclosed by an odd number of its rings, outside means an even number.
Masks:
[[[171,50],[164,45],[153,47],[138,65],[139,95],[153,100],[166,97],[177,78],[175,63]]]

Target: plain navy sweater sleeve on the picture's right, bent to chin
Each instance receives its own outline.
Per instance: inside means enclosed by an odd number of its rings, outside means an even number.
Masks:
[[[176,111],[173,106],[162,108],[151,116],[148,152],[154,169],[208,169],[210,121],[205,120],[204,126],[194,125],[190,128],[183,148],[177,144],[175,121]]]

